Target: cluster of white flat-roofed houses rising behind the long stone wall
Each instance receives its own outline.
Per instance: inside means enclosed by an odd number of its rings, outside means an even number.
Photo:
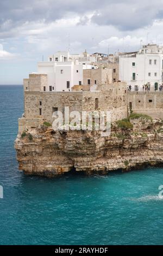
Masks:
[[[38,63],[38,73],[47,74],[49,91],[70,91],[74,85],[83,84],[83,69],[95,69],[91,62],[96,62],[95,54],[70,54],[60,52],[48,57],[47,62]]]

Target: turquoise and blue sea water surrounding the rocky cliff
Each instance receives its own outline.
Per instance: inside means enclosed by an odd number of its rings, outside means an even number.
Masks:
[[[18,171],[23,87],[0,86],[1,245],[163,245],[163,169],[58,179]]]

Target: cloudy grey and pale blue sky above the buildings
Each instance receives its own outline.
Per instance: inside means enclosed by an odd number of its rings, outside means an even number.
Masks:
[[[22,84],[57,51],[163,44],[163,0],[0,0],[0,84]]]

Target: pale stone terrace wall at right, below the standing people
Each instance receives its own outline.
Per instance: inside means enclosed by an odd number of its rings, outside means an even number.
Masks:
[[[135,113],[163,119],[163,92],[129,92],[128,105]]]

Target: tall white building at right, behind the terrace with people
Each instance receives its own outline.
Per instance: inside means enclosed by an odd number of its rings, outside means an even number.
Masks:
[[[131,90],[159,90],[162,84],[163,47],[144,45],[139,52],[119,56],[119,79],[131,85]]]

